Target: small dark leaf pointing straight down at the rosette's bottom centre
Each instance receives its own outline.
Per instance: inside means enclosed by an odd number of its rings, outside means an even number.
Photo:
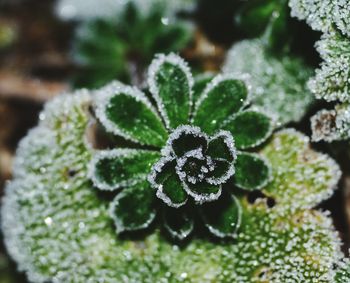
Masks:
[[[164,228],[176,240],[184,240],[193,231],[193,214],[186,208],[163,208]]]

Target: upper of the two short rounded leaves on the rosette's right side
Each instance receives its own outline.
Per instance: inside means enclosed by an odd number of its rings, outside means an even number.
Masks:
[[[238,113],[224,126],[235,140],[238,149],[261,145],[272,133],[272,120],[258,111],[247,110]]]

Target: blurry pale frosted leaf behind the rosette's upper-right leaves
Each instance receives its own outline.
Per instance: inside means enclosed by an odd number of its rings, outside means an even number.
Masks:
[[[300,121],[313,102],[306,83],[310,69],[299,58],[275,58],[260,39],[236,43],[229,51],[224,72],[251,76],[252,101],[283,125]]]

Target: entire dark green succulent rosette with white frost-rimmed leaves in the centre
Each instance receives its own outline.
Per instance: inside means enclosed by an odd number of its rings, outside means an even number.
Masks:
[[[218,75],[193,99],[198,87],[175,54],[153,61],[148,85],[142,92],[111,83],[96,93],[100,125],[127,141],[96,151],[89,170],[95,187],[116,193],[117,233],[145,229],[160,215],[178,240],[197,222],[235,237],[240,197],[270,179],[269,163],[252,150],[270,137],[272,119],[249,107],[244,75]]]

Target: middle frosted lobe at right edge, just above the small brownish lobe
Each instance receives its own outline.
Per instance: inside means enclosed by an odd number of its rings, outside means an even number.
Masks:
[[[323,62],[309,82],[311,92],[326,101],[350,101],[350,40],[339,33],[325,34],[316,48]]]

